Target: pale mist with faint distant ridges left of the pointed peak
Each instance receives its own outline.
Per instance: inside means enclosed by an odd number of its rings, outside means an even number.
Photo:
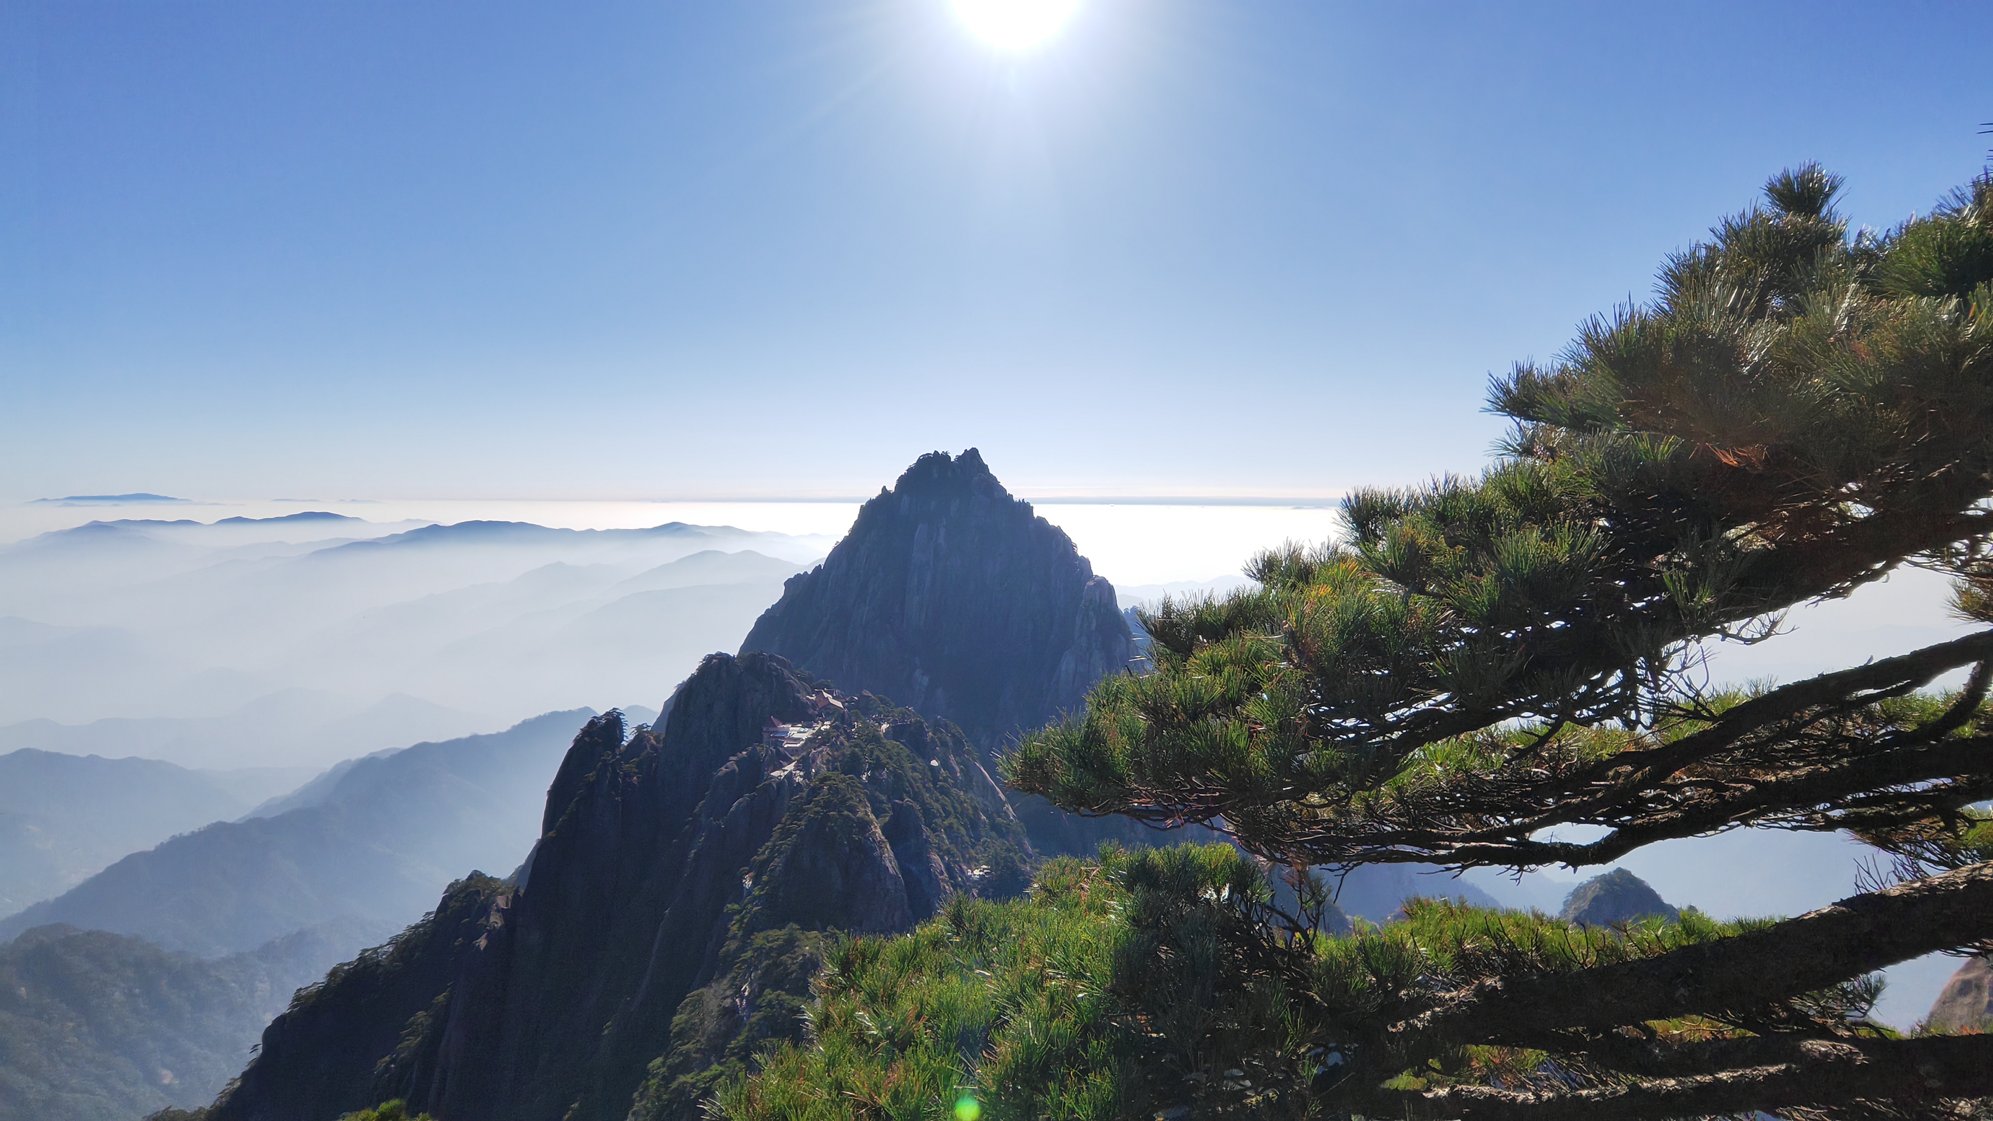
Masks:
[[[217,720],[287,688],[345,696],[355,710],[407,694],[462,718],[389,726],[345,746],[305,742],[317,730],[291,720],[263,726],[277,740],[253,752],[197,734],[163,754],[8,744],[4,732],[0,750],[151,754],[203,768],[295,750],[327,766],[534,712],[654,704],[660,680],[731,648],[781,580],[825,549],[829,539],[686,523],[570,531],[347,515],[46,533],[0,547],[0,726]],[[628,596],[642,598],[614,606]]]

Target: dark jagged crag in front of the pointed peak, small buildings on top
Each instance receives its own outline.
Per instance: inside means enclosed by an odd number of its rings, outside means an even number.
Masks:
[[[967,794],[975,780],[949,726],[821,690],[771,654],[713,654],[662,730],[592,720],[516,882],[452,886],[432,918],[301,995],[211,1117],[331,1121],[401,1097],[442,1121],[624,1121],[668,1067],[648,1101],[676,1113],[654,1115],[694,1117],[672,1085],[745,1059],[725,1023],[674,1059],[688,993],[759,975],[759,953],[807,932],[907,930],[953,894],[1028,884],[1022,832]],[[797,969],[775,969],[777,989]],[[789,1019],[737,1027],[801,1031]]]

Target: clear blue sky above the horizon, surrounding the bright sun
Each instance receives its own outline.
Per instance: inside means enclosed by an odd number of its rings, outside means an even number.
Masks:
[[[1993,4],[0,0],[0,501],[1325,495],[1818,158],[1979,172]]]

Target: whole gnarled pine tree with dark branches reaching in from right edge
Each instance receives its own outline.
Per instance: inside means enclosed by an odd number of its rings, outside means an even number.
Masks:
[[[1339,541],[1258,557],[1258,588],[1146,614],[1150,672],[1006,762],[1064,810],[1202,822],[1291,870],[1584,868],[1734,828],[1887,854],[1861,894],[1770,924],[1570,934],[1425,908],[1401,932],[1234,939],[1311,1055],[1307,1111],[1883,1117],[1993,1095],[1993,1035],[1865,1019],[1873,969],[1993,949],[1993,628],[1702,684],[1710,642],[1780,640],[1780,612],[1905,566],[1949,572],[1953,612],[1993,624],[1993,178],[1881,233],[1848,229],[1840,186],[1776,176],[1664,263],[1650,305],[1493,381],[1515,427],[1481,477],[1359,491]],[[1570,826],[1596,836],[1555,840]]]

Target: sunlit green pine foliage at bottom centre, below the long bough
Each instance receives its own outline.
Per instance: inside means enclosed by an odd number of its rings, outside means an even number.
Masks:
[[[1323,937],[1276,900],[1262,866],[1222,844],[1054,860],[1028,900],[957,900],[911,935],[837,943],[813,1039],[771,1051],[715,1109],[729,1121],[943,1121],[965,1099],[993,1121],[1347,1111],[1353,1023],[1485,979],[1638,963],[1766,926],[1690,914],[1572,928],[1415,900],[1403,922]],[[1287,937],[1268,941],[1270,930]],[[1808,1007],[1859,1013],[1871,995],[1830,987]],[[1557,1083],[1541,1051],[1401,1045],[1397,1089]]]

